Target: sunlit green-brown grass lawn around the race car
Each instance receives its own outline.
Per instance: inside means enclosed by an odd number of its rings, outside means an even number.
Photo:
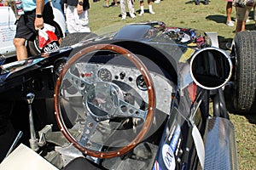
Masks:
[[[110,1],[111,2],[111,1]],[[138,16],[139,3],[134,3],[137,14],[136,19],[127,17],[121,20],[120,7],[103,8],[105,1],[101,0],[92,3],[90,0],[90,29],[96,31],[103,26],[111,26],[119,23],[132,23],[148,20],[160,20],[166,23],[166,26],[179,26],[186,28],[194,28],[201,31],[216,31],[220,48],[224,48],[226,42],[231,42],[235,37],[235,27],[225,25],[226,14],[224,0],[212,0],[209,5],[195,5],[195,3],[186,0],[164,0],[159,4],[153,4],[156,14],[145,13]],[[145,1],[144,8],[148,9]],[[128,11],[128,9],[126,10]],[[252,11],[253,12],[253,11]],[[250,22],[247,23],[247,30],[253,30],[254,21],[250,14]],[[232,17],[236,18],[236,10],[233,8]],[[255,111],[256,112],[256,111]],[[230,115],[231,121],[236,128],[236,147],[238,150],[239,168],[241,170],[256,169],[256,113],[250,116]]]

